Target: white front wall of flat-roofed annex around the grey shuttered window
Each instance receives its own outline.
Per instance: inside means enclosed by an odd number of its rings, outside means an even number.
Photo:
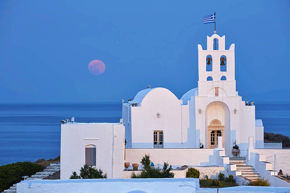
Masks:
[[[113,136],[116,136],[114,147]],[[114,157],[113,177],[121,178],[124,168],[124,125],[74,123],[61,125],[61,179],[68,179],[73,171],[79,173],[79,169],[85,164],[85,146],[90,144],[96,146],[96,167],[111,178]]]

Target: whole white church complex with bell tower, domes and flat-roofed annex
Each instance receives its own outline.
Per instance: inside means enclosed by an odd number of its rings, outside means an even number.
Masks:
[[[180,99],[166,88],[148,86],[133,100],[122,100],[120,123],[62,124],[61,179],[84,164],[101,168],[109,178],[128,178],[131,172],[124,163],[138,163],[141,169],[145,153],[155,165],[229,168],[235,177],[242,176],[230,164],[235,144],[245,164],[264,163],[262,154],[273,151],[264,149],[264,127],[262,120],[255,120],[254,103],[243,101],[236,90],[235,44],[226,49],[225,36],[213,34],[207,36],[206,49],[200,44],[197,48],[198,88]],[[262,177],[271,179],[272,165],[263,167],[258,167],[263,170],[259,175],[264,172]]]

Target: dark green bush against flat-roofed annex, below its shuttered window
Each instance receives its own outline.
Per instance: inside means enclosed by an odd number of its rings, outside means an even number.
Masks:
[[[77,172],[73,172],[70,176],[70,179],[97,179],[97,178],[107,178],[107,174],[104,173],[101,169],[97,170],[93,166],[84,165],[79,170],[80,173],[77,175]]]

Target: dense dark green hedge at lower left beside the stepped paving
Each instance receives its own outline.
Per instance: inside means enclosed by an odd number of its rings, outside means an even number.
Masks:
[[[22,176],[32,176],[43,169],[44,166],[32,162],[16,162],[0,166],[0,192],[23,180]]]

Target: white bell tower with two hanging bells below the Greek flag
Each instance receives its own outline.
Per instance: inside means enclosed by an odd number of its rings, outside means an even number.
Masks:
[[[226,96],[235,95],[235,44],[225,49],[225,36],[207,36],[207,49],[198,47],[198,93],[207,95],[213,87],[220,87]]]

